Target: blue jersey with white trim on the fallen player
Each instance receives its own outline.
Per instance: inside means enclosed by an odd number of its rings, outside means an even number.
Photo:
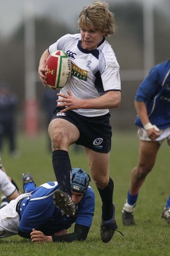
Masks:
[[[54,205],[52,195],[56,189],[58,189],[58,182],[47,182],[22,200],[20,204],[20,231],[31,232],[35,228],[47,236],[68,229],[73,223],[91,227],[95,211],[93,189],[89,187],[79,204],[76,205],[74,218],[61,214],[61,209]]]

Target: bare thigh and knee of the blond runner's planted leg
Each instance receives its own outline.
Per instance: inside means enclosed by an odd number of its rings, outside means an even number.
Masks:
[[[88,158],[89,170],[91,177],[97,186],[106,186],[109,182],[109,160],[110,153],[98,153],[85,147]]]

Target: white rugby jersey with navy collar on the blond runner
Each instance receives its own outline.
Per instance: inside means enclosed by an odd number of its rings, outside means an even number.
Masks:
[[[64,51],[72,61],[72,76],[61,93],[66,90],[78,99],[94,99],[105,92],[121,90],[120,66],[111,45],[105,40],[97,49],[88,51],[81,47],[81,34],[67,34],[50,45],[49,53]],[[109,109],[77,109],[73,110],[84,116],[102,116]]]

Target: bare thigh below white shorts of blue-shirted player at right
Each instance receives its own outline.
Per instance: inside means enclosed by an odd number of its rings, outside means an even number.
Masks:
[[[157,141],[139,141],[139,166],[152,168],[155,164],[160,143]]]

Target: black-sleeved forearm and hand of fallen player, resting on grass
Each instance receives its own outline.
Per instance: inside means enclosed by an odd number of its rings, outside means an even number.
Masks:
[[[84,225],[75,224],[74,232],[70,234],[63,235],[54,235],[54,236],[45,236],[43,232],[33,229],[30,234],[31,241],[33,243],[47,243],[47,242],[67,242],[70,243],[72,241],[84,241],[88,236],[89,227]]]

